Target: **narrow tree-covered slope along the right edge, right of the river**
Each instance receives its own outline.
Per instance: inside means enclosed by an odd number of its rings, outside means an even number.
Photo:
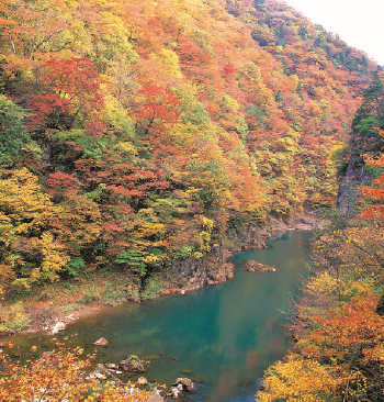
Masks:
[[[383,401],[383,94],[376,75],[340,169],[353,208],[349,214],[328,211],[329,225],[317,232],[312,276],[294,305],[297,344],[266,372],[261,401]]]

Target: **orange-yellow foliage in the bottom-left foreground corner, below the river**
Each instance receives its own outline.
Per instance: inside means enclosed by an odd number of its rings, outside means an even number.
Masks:
[[[12,344],[9,344],[12,347]],[[57,349],[45,351],[36,358],[36,346],[32,346],[25,366],[13,362],[0,351],[0,400],[25,401],[146,401],[149,393],[133,386],[87,378],[86,369],[90,360],[80,359],[82,349],[66,349],[56,344]]]

